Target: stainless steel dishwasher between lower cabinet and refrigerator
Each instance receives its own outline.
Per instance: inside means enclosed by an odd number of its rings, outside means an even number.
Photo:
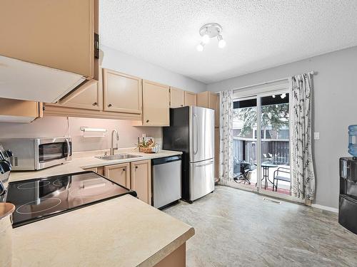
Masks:
[[[181,155],[151,159],[153,204],[160,209],[181,199]]]

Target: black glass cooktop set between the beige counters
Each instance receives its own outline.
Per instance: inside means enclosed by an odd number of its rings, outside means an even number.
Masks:
[[[136,192],[95,172],[77,172],[10,182],[6,201],[16,206],[12,226],[18,227]]]

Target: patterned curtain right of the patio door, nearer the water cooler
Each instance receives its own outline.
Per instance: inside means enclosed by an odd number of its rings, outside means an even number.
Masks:
[[[315,174],[311,147],[311,74],[291,78],[291,187],[294,197],[315,197]]]

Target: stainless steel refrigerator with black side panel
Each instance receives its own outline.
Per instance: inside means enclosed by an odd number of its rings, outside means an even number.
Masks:
[[[214,110],[170,109],[170,126],[163,128],[164,150],[182,155],[182,199],[192,202],[214,190]]]

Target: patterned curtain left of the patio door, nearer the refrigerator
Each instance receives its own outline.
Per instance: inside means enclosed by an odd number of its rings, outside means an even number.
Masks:
[[[220,184],[233,179],[233,90],[220,93],[221,169]]]

